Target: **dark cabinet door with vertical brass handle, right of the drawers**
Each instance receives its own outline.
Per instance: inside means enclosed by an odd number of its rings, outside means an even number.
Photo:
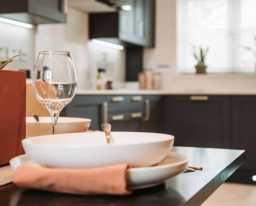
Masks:
[[[143,132],[163,133],[163,97],[160,95],[145,96],[145,118]]]

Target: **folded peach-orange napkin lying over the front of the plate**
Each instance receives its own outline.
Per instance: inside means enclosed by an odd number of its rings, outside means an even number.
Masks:
[[[128,164],[96,168],[49,168],[21,165],[12,177],[19,187],[70,194],[129,195]]]

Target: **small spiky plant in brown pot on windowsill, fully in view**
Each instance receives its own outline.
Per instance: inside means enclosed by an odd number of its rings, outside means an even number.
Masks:
[[[208,53],[208,50],[209,50],[209,47],[207,47],[206,49],[203,49],[201,46],[199,46],[199,54],[198,54],[197,49],[195,48],[195,46],[193,46],[193,57],[195,58],[195,60],[198,61],[198,64],[195,65],[197,74],[206,74],[207,65],[204,63],[204,61]]]

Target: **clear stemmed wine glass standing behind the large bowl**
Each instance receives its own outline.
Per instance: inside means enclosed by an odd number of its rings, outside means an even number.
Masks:
[[[52,117],[53,134],[57,133],[59,113],[77,91],[77,75],[69,52],[39,52],[33,76],[36,98]]]

